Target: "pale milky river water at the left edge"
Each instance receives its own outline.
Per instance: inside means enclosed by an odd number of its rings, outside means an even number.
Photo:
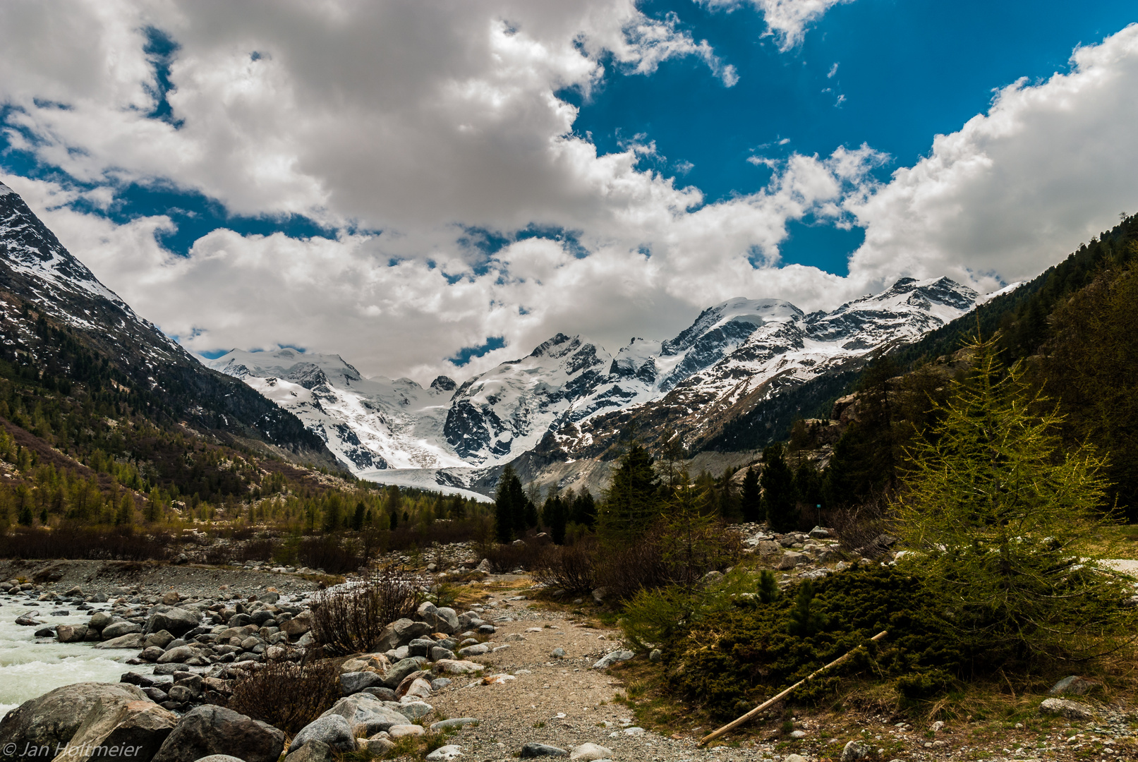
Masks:
[[[109,604],[94,604],[90,611],[76,611],[75,604],[50,601],[28,606],[24,596],[0,595],[0,718],[28,698],[73,682],[118,682],[127,669],[149,673],[154,665],[126,666],[138,656],[138,649],[100,651],[90,643],[59,643],[36,638],[35,631],[49,624],[85,624],[96,611],[108,611]],[[69,611],[68,616],[50,616],[52,611]],[[33,612],[44,622],[40,627],[22,627],[16,619]]]

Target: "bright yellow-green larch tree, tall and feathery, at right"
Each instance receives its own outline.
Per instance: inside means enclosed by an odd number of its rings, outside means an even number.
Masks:
[[[1087,446],[1063,453],[1062,416],[996,347],[971,342],[971,373],[917,440],[898,533],[935,611],[973,647],[1087,655],[1138,623],[1114,603],[1130,593],[1099,571],[1104,461]]]

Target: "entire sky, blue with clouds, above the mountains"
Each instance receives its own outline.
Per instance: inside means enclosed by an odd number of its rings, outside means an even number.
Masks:
[[[1107,103],[1136,94],[1132,2],[855,0],[774,34],[770,2],[381,6],[347,31],[192,3],[71,28],[9,8],[0,173],[196,351],[303,346],[424,376],[556,331],[665,338],[731,296],[832,307],[905,274],[995,288],[1138,202],[1123,176],[1078,204],[1026,200],[1094,184],[1106,159],[1020,168],[1058,135],[1118,144]],[[90,50],[28,52],[68,33]],[[1075,89],[1091,116],[1072,136],[1040,103],[1071,97],[1080,45],[1102,51],[1083,68],[1118,81]],[[966,126],[1000,92],[1014,141],[995,117]],[[938,134],[957,135],[951,158]],[[921,183],[982,199],[995,175],[962,168],[981,156],[1024,183],[1005,227],[991,204],[917,208]],[[1029,240],[1039,225],[1054,246]]]

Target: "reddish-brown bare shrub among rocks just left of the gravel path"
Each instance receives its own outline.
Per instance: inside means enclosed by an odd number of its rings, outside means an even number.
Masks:
[[[423,602],[423,583],[395,566],[365,581],[321,594],[312,608],[312,635],[332,654],[373,651],[384,628],[412,614]]]

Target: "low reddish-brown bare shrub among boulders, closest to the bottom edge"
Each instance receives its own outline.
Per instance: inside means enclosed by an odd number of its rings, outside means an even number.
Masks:
[[[233,686],[228,707],[292,736],[340,697],[339,668],[322,660],[299,665],[269,662]]]

